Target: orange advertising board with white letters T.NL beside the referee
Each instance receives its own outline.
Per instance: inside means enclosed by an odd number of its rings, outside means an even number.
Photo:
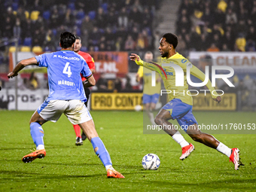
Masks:
[[[128,72],[127,52],[89,52],[95,61],[96,73],[123,73]]]

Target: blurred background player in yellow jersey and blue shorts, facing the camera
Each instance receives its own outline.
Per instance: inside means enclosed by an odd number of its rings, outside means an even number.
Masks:
[[[144,59],[146,62],[151,62],[153,60],[153,53],[148,51],[145,53]],[[145,106],[145,111],[151,120],[151,124],[154,125],[154,114],[152,111],[156,108],[156,104],[159,100],[160,90],[161,90],[161,78],[160,75],[156,74],[156,86],[151,87],[151,70],[143,69],[143,66],[139,66],[139,70],[136,74],[136,81],[140,81],[143,78],[143,104]]]

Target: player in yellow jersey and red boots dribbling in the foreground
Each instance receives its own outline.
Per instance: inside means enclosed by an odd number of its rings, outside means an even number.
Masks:
[[[227,155],[230,158],[230,161],[235,166],[235,169],[239,169],[239,166],[242,165],[239,161],[239,149],[238,148],[228,148],[221,142],[218,142],[215,137],[202,133],[197,127],[197,120],[192,114],[192,105],[193,100],[190,96],[189,90],[187,90],[187,66],[190,66],[190,74],[200,78],[201,81],[205,80],[205,75],[200,69],[197,69],[196,66],[193,66],[184,56],[177,53],[175,48],[178,45],[178,38],[172,33],[166,33],[160,39],[159,51],[162,56],[160,66],[163,67],[163,70],[166,73],[166,76],[163,75],[163,84],[166,87],[166,90],[171,90],[169,92],[169,102],[160,109],[157,117],[155,117],[155,123],[161,125],[162,127],[168,127],[168,129],[163,129],[169,136],[172,136],[172,139],[175,140],[182,148],[182,155],[180,160],[184,160],[189,154],[194,151],[194,145],[188,143],[183,136],[175,130],[175,127],[172,126],[172,123],[169,123],[168,120],[177,120],[181,128],[185,128],[184,131],[196,142],[201,142],[204,145],[215,148],[220,151],[222,154]],[[138,55],[132,53],[130,56],[132,61],[135,61],[137,65],[144,66],[145,68],[156,70],[156,65],[152,62],[144,62]],[[176,87],[175,86],[175,75],[177,72],[172,67],[163,66],[163,63],[173,63],[180,66],[184,71],[184,86]],[[166,79],[167,78],[167,79]],[[206,86],[211,91],[214,91],[211,82],[209,81]],[[221,96],[215,96],[212,94],[212,99],[216,102],[221,102]]]

